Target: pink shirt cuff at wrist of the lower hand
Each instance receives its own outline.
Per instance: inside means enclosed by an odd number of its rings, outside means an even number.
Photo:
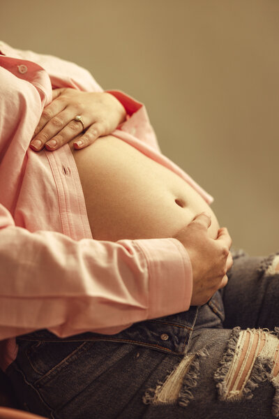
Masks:
[[[158,318],[190,307],[193,274],[190,258],[176,239],[135,240],[149,270],[149,314]]]

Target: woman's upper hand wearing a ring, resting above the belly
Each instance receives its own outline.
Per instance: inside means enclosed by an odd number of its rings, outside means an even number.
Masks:
[[[78,115],[82,122],[75,119]],[[82,149],[112,133],[125,119],[126,110],[110,93],[54,89],[52,103],[43,110],[30,147],[36,152],[43,147],[53,151],[85,131],[74,142],[75,149]]]

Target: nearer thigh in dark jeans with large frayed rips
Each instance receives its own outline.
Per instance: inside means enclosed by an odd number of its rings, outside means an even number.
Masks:
[[[247,346],[246,377],[237,368],[246,335],[257,333],[197,328],[184,355],[105,341],[24,342],[8,375],[22,407],[52,419],[271,418],[271,348],[257,360],[259,346]],[[268,342],[263,333],[255,341]],[[243,378],[239,391],[234,374]]]

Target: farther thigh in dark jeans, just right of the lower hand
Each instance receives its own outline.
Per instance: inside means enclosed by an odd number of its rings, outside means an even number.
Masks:
[[[223,290],[224,327],[269,328],[279,324],[279,256],[234,258]]]

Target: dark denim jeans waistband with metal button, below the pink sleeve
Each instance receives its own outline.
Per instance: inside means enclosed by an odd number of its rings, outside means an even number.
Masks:
[[[197,316],[198,321],[197,321]],[[112,341],[125,344],[136,344],[147,348],[158,349],[167,353],[183,354],[186,352],[190,337],[196,328],[222,327],[224,320],[223,302],[220,293],[213,295],[211,300],[202,307],[190,307],[171,316],[135,323],[130,328],[116,335],[101,335],[86,332],[66,338],[60,338],[48,330],[38,330],[18,337],[18,341]]]

